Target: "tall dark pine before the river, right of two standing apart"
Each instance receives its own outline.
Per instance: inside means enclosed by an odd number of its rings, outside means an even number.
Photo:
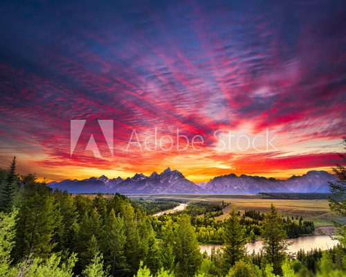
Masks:
[[[265,253],[266,262],[273,265],[274,274],[282,274],[281,266],[289,245],[286,238],[282,217],[277,213],[275,206],[271,204],[271,210],[266,213],[263,221],[262,249]]]

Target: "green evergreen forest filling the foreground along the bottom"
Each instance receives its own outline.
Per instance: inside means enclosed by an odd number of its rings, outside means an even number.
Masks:
[[[201,254],[197,220],[187,213],[163,222],[124,195],[105,199],[51,190],[34,175],[18,176],[15,159],[0,175],[0,276],[211,277],[343,276],[345,237],[316,257],[313,268],[287,255],[284,219],[275,206],[264,215],[260,255],[246,253],[246,227],[233,208],[223,223],[224,248]],[[199,220],[199,218],[198,218]],[[206,224],[221,228],[212,217]],[[210,222],[208,222],[210,220]],[[247,220],[247,219],[246,219]],[[160,228],[154,222],[161,222]],[[164,224],[163,224],[164,223]],[[201,222],[194,224],[202,224]],[[204,223],[203,223],[204,224]],[[216,224],[216,225],[215,225]],[[334,275],[330,275],[334,274]]]

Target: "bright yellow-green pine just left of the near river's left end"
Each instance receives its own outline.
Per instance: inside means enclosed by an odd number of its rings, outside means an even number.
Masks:
[[[194,276],[201,265],[202,256],[188,215],[183,214],[179,218],[175,235],[176,269],[174,273],[178,277]]]

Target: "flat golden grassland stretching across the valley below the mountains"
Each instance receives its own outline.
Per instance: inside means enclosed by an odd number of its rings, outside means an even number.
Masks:
[[[93,198],[95,195],[85,195]],[[331,226],[333,221],[346,224],[346,219],[329,211],[327,199],[261,199],[260,195],[207,195],[207,194],[134,194],[127,195],[131,198],[142,199],[170,199],[179,200],[180,202],[195,201],[224,201],[229,203],[224,208],[224,214],[215,217],[218,220],[224,220],[228,217],[231,205],[234,205],[241,213],[245,210],[254,209],[266,212],[271,206],[275,205],[278,211],[283,215],[302,216],[304,220],[313,220],[316,226]],[[113,197],[113,195],[104,195],[104,197]]]

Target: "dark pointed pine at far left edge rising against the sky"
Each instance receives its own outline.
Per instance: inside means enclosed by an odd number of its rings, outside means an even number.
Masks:
[[[0,211],[9,212],[12,210],[15,194],[19,188],[16,168],[17,160],[16,157],[13,157],[7,172],[6,180],[2,182],[0,188]]]

